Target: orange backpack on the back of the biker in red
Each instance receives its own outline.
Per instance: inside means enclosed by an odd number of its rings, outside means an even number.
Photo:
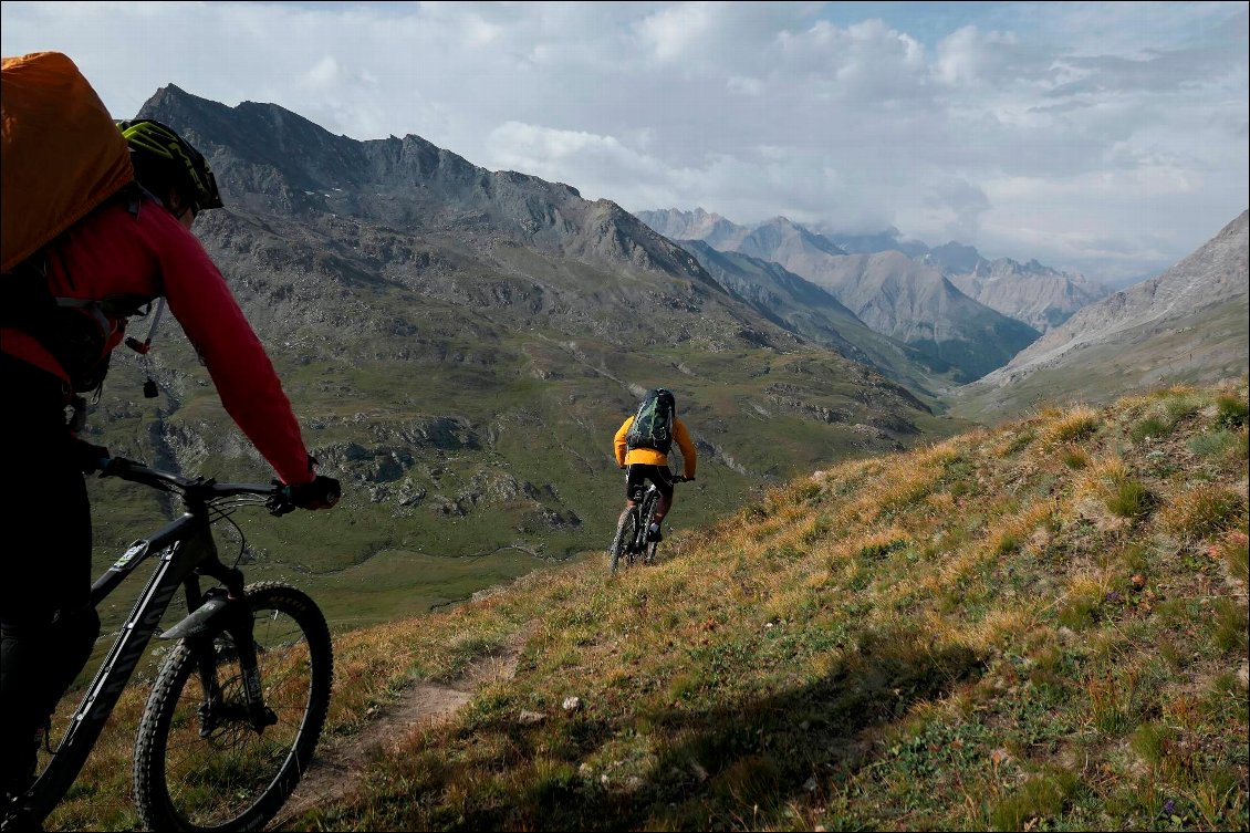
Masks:
[[[0,78],[0,271],[8,274],[135,171],[125,138],[68,56],[5,58]]]

